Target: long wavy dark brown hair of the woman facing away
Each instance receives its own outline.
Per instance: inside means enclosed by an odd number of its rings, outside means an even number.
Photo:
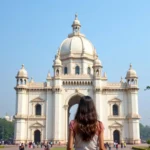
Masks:
[[[77,122],[76,133],[83,141],[90,141],[97,131],[97,112],[90,96],[83,96],[75,115]]]

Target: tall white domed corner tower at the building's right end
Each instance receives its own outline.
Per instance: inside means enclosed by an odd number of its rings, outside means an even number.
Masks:
[[[126,74],[127,81],[127,106],[128,112],[126,118],[129,123],[129,143],[140,143],[140,135],[139,135],[139,119],[140,115],[138,114],[138,83],[137,83],[137,74],[136,71],[132,69],[132,65],[130,64],[130,68]],[[134,132],[137,131],[137,132]]]

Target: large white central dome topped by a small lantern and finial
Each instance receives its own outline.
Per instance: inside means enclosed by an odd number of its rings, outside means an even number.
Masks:
[[[68,35],[68,38],[65,39],[60,45],[60,56],[66,55],[89,55],[95,56],[95,48],[93,44],[85,38],[83,34],[80,33],[80,21],[75,16],[73,21],[72,28],[73,33]]]

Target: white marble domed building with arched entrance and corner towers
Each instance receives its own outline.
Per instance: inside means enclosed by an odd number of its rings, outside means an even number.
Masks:
[[[71,106],[83,95],[93,98],[104,123],[107,142],[139,143],[138,77],[130,65],[125,81],[110,83],[93,44],[80,32],[75,16],[72,33],[54,59],[54,76],[28,81],[24,66],[16,76],[15,142],[66,142]],[[103,75],[102,75],[103,74]]]

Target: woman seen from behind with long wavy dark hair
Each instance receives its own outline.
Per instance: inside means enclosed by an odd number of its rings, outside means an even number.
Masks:
[[[93,100],[84,96],[79,102],[75,119],[69,125],[67,150],[104,150],[103,124],[97,120]]]

